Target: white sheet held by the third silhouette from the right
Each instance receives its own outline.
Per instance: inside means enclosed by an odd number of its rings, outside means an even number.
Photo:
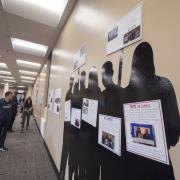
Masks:
[[[98,101],[83,98],[82,120],[96,127],[97,123]]]

